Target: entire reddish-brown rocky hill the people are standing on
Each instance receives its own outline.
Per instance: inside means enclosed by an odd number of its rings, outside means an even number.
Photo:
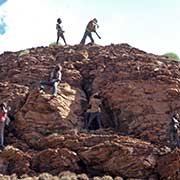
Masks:
[[[40,80],[63,67],[58,96]],[[11,106],[0,179],[180,179],[169,148],[180,113],[180,64],[128,44],[52,46],[0,55],[0,102]],[[89,97],[100,92],[103,128],[87,131]]]

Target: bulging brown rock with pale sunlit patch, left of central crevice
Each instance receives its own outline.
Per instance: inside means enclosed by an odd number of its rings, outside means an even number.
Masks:
[[[68,84],[61,86],[61,94],[56,98],[32,92],[16,115],[15,128],[18,135],[27,144],[37,148],[38,140],[43,136],[80,126],[80,102],[80,91],[72,89]]]

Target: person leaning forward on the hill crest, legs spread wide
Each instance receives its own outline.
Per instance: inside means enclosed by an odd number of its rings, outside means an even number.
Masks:
[[[97,28],[99,28],[99,25],[97,24],[97,19],[96,18],[94,18],[93,20],[89,21],[89,23],[86,26],[86,30],[85,30],[84,36],[83,36],[80,44],[82,44],[82,45],[85,44],[87,36],[90,38],[91,43],[94,44],[94,39],[92,37],[92,32],[96,33],[96,35],[99,37],[99,39],[101,39],[101,37],[96,32]]]

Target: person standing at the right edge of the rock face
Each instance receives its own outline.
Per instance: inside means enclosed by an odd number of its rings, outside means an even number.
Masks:
[[[171,147],[178,147],[180,148],[180,140],[179,140],[179,135],[178,135],[178,128],[179,128],[179,114],[174,114],[171,122],[170,122],[170,144]],[[174,146],[174,144],[176,144]]]

